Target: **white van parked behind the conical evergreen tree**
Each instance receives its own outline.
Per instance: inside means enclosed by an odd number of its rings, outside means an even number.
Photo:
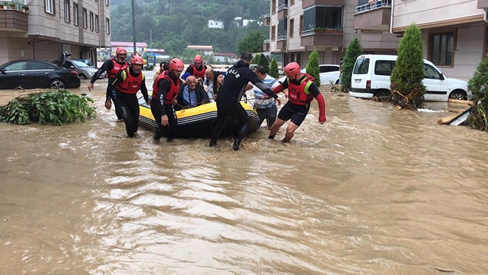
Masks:
[[[354,64],[349,94],[357,98],[372,98],[390,94],[390,75],[397,61],[396,55],[360,55]],[[466,100],[473,94],[468,82],[448,78],[432,62],[424,59],[425,101]]]

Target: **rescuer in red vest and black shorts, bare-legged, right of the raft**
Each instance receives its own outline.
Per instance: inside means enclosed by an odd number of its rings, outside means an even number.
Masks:
[[[310,102],[317,99],[319,103],[319,123],[323,124],[326,118],[326,102],[320,94],[319,88],[315,85],[314,78],[307,73],[300,73],[300,65],[291,62],[284,67],[286,80],[275,87],[273,91],[279,93],[288,89],[288,102],[281,108],[275,124],[271,126],[268,138],[275,138],[275,135],[285,121],[291,120],[287,126],[282,142],[289,142],[296,129],[302,124],[310,110]]]

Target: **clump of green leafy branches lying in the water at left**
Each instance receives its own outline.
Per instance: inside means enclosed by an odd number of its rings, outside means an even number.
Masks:
[[[63,125],[79,119],[94,119],[96,107],[91,107],[93,99],[85,94],[72,94],[67,90],[45,91],[17,97],[7,105],[0,106],[0,121],[10,124],[26,125],[38,121],[45,125]]]

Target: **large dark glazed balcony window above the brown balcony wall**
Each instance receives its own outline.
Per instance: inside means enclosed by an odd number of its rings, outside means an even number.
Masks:
[[[303,12],[303,31],[342,29],[342,8],[314,6]]]

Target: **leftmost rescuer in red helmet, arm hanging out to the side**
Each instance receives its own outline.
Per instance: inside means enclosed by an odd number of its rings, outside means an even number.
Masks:
[[[90,84],[88,84],[88,90],[91,91],[93,89],[93,83],[98,80],[98,77],[102,75],[103,72],[107,72],[107,77],[109,78],[107,84],[107,97],[105,98],[105,108],[110,110],[112,108],[112,101],[115,105],[115,114],[117,115],[118,121],[122,121],[123,117],[122,114],[119,113],[120,108],[117,107],[116,103],[116,91],[112,87],[112,82],[114,82],[114,77],[120,70],[128,66],[127,60],[127,51],[123,47],[118,47],[115,50],[115,58],[112,57],[111,59],[106,60],[103,62],[102,66],[97,70],[97,72],[91,77]],[[111,101],[112,99],[112,101]]]

